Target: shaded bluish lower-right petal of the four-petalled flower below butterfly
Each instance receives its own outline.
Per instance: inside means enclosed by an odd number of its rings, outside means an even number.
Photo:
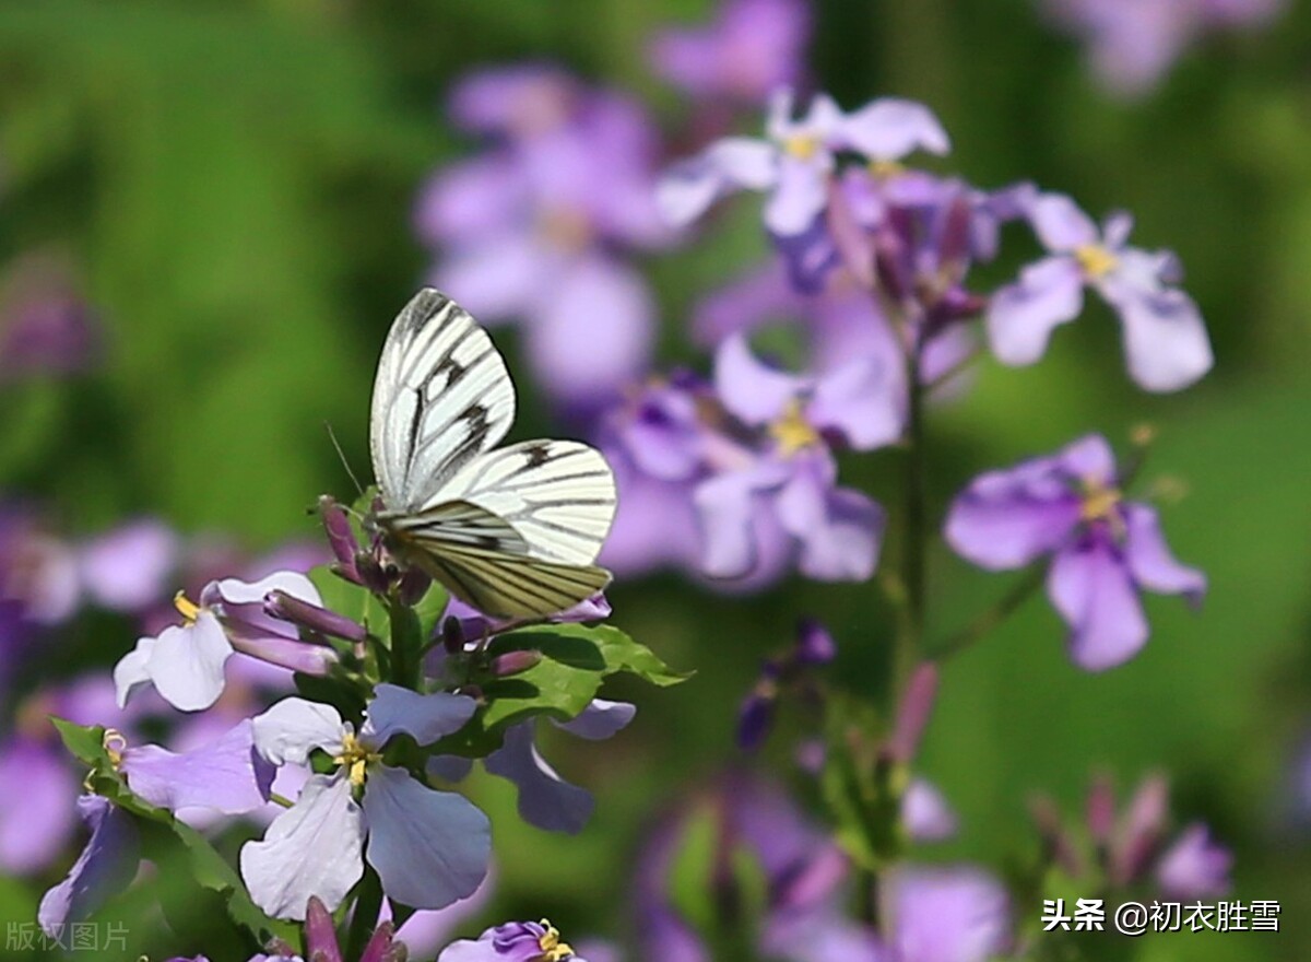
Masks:
[[[372,769],[364,787],[368,864],[389,899],[444,908],[468,898],[492,858],[492,826],[468,799],[434,791],[397,768]]]

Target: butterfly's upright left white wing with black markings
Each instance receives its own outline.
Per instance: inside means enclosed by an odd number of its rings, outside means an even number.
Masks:
[[[374,381],[374,476],[392,509],[430,503],[514,421],[514,382],[492,339],[425,287],[392,323]]]

